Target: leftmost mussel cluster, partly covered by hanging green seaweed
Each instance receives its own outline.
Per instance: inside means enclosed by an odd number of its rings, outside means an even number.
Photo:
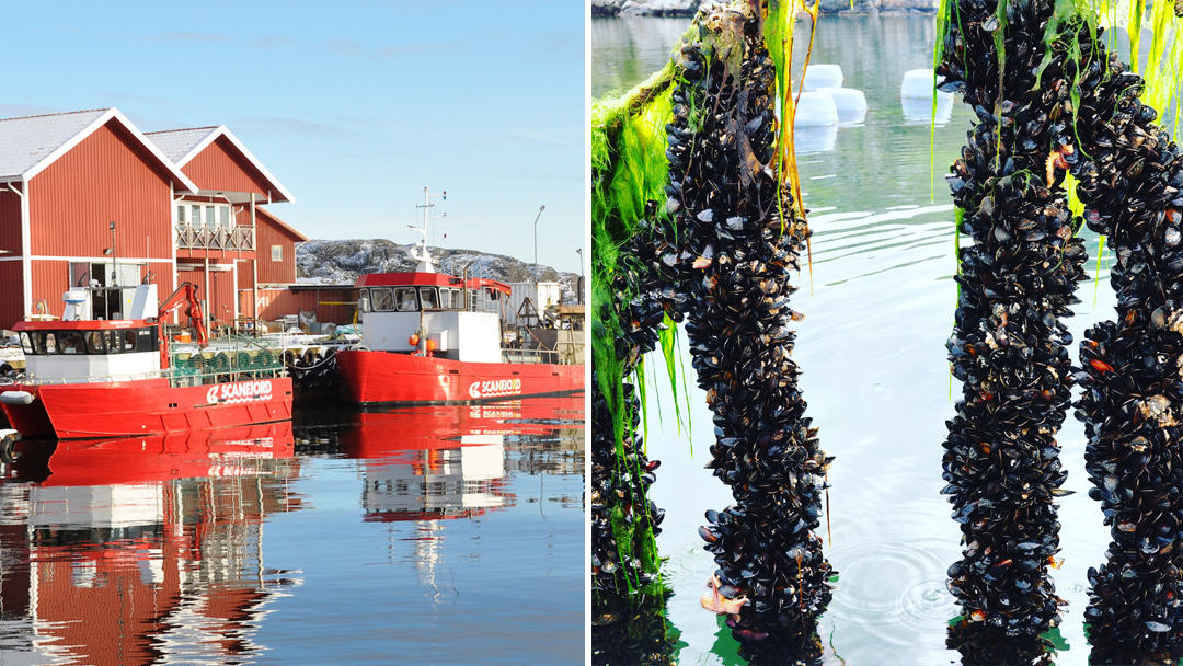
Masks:
[[[664,239],[673,235],[668,221],[657,215],[653,201],[646,203],[644,214],[621,252],[610,298],[602,304],[614,311],[599,317],[619,324],[619,330],[597,335],[612,338],[620,377],[629,376],[654,349],[667,316],[681,321],[679,308],[687,298],[680,276],[661,261]],[[635,387],[621,382],[618,395],[605,395],[603,371],[593,362],[592,660],[597,665],[668,664],[674,653],[662,613],[668,591],[658,580],[653,542],[661,534],[665,511],[647,496],[660,463],[648,459],[636,432],[641,409]],[[623,425],[620,442],[616,419]]]

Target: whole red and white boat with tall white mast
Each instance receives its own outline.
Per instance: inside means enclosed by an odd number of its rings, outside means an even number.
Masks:
[[[361,405],[470,405],[583,392],[584,366],[554,351],[503,349],[508,284],[435,272],[422,240],[415,271],[371,273],[360,290],[362,347],[336,355],[347,399]],[[414,228],[414,227],[412,227]],[[575,355],[582,362],[582,354]]]

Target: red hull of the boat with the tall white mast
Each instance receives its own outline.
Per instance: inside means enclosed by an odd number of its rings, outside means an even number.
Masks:
[[[348,400],[361,405],[477,405],[583,390],[586,366],[465,363],[387,351],[338,351]]]

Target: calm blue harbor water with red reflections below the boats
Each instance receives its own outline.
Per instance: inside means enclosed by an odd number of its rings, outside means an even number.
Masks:
[[[582,664],[583,399],[18,445],[0,664]]]

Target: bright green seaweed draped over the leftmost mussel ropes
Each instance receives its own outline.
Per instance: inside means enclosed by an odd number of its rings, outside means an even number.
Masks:
[[[804,8],[801,1],[764,0],[759,4],[759,8],[765,44],[776,67],[777,93],[781,101],[782,121],[776,150],[777,173],[782,182],[788,181],[794,188],[795,205],[800,208],[800,219],[803,220],[799,179],[796,177],[796,160],[793,150],[795,101],[791,96],[793,86],[789,71],[791,69],[793,21],[796,9],[803,8],[810,12],[816,24],[817,5],[815,2],[814,7],[809,9]],[[735,5],[744,8],[751,6],[743,0],[736,0]],[[709,59],[723,63],[736,80],[739,80],[743,58],[742,30],[743,24],[738,19],[724,19],[723,24],[712,25],[711,30],[700,26],[696,19],[696,22],[692,22],[683,35],[681,43],[700,41],[706,47]],[[812,39],[813,33],[810,33],[810,44]],[[594,101],[592,108],[592,355],[597,388],[605,396],[612,413],[612,435],[616,452],[614,474],[618,479],[626,473],[632,474],[635,479],[642,473],[639,468],[621,468],[622,461],[626,460],[625,444],[626,440],[633,438],[629,428],[636,416],[633,413],[633,403],[625,399],[626,381],[632,379],[635,382],[645,428],[644,442],[648,441],[647,414],[649,409],[644,358],[636,357],[635,349],[627,351],[629,357],[620,357],[627,347],[618,345],[618,341],[621,340],[625,331],[625,324],[627,324],[627,322],[621,321],[622,312],[627,308],[627,299],[625,303],[620,302],[618,289],[622,284],[626,285],[626,290],[636,289],[636,285],[633,284],[635,277],[645,274],[647,271],[646,266],[639,265],[623,248],[632,243],[633,237],[641,228],[646,205],[651,201],[658,205],[657,209],[659,211],[658,219],[651,220],[651,222],[675,225],[675,220],[665,212],[666,194],[664,188],[668,182],[665,125],[672,119],[670,95],[680,80],[680,58],[679,44],[675,45],[670,62],[660,71],[626,93],[606,96]],[[806,66],[808,66],[808,58]],[[700,118],[706,112],[694,102],[693,97],[686,101],[687,106],[690,106],[692,128],[702,122]],[[675,226],[672,231],[677,235]],[[690,435],[690,392],[686,387],[686,370],[680,366],[680,355],[677,354],[679,345],[677,326],[668,317],[665,323],[668,328],[659,331],[659,341],[673,389],[679,433],[684,413],[683,405],[685,405],[686,433]],[[678,366],[674,364],[674,356],[679,358]],[[685,400],[684,403],[679,400],[677,390],[677,375],[679,373],[683,375],[681,400]],[[652,381],[655,382],[655,377],[652,377]],[[657,408],[660,418],[660,403],[657,403]],[[693,450],[691,450],[691,454],[693,454]],[[633,489],[634,484],[623,485],[629,487],[629,493],[636,492]],[[621,562],[625,562],[627,557],[635,556],[640,571],[657,573],[660,560],[652,530],[638,530],[635,526],[638,523],[626,516],[626,502],[627,505],[632,506],[631,511],[644,510],[647,506],[644,486],[639,487],[640,497],[622,498],[609,509],[609,522]],[[641,590],[640,580],[629,577],[627,567],[622,569],[626,570],[628,591],[634,594]]]

